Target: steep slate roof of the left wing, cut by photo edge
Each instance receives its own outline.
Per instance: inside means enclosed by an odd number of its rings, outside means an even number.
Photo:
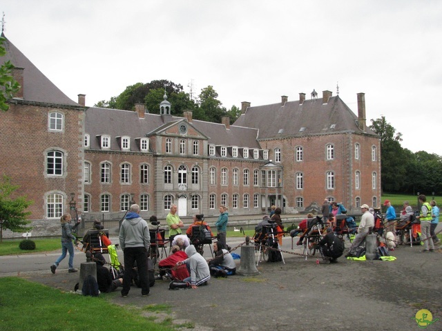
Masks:
[[[79,106],[78,103],[69,99],[66,94],[61,92],[57,86],[52,83],[25,55],[12,44],[8,38],[2,33],[1,37],[5,38],[3,47],[6,49],[6,55],[0,57],[0,66],[6,61],[17,68],[23,70],[23,100],[35,101],[42,103],[52,103],[60,105]]]

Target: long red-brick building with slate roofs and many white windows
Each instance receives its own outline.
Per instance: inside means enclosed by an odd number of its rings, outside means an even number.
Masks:
[[[4,37],[4,36],[3,36]],[[304,210],[324,198],[350,210],[381,198],[380,141],[329,91],[323,99],[251,107],[231,125],[160,114],[86,107],[70,100],[8,39],[6,57],[17,68],[19,93],[0,114],[0,169],[26,194],[34,235],[58,233],[70,203],[85,217],[119,218],[136,201],[142,216],[164,218],[170,205],[182,217],[262,214],[270,205]],[[9,234],[13,236],[14,234]],[[8,234],[6,234],[8,237]]]

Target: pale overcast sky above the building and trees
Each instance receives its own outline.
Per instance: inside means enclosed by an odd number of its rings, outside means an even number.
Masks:
[[[442,155],[442,1],[2,0],[4,33],[86,106],[167,79],[227,109],[339,95]],[[320,121],[320,119],[318,119]]]

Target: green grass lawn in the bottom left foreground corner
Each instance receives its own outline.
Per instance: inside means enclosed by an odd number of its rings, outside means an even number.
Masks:
[[[153,305],[122,307],[106,300],[106,296],[84,297],[64,293],[17,277],[0,278],[0,329],[22,330],[176,330],[170,318],[155,323],[142,313],[154,311]],[[117,294],[117,293],[115,293]],[[118,293],[119,294],[119,293]],[[101,325],[101,326],[100,326]]]

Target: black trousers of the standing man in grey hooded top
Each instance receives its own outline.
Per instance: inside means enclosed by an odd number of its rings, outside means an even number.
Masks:
[[[138,278],[140,279],[141,294],[149,294],[149,281],[147,270],[147,252],[144,246],[126,247],[124,254],[124,276],[122,295],[128,294],[131,290],[133,265],[137,261]]]

